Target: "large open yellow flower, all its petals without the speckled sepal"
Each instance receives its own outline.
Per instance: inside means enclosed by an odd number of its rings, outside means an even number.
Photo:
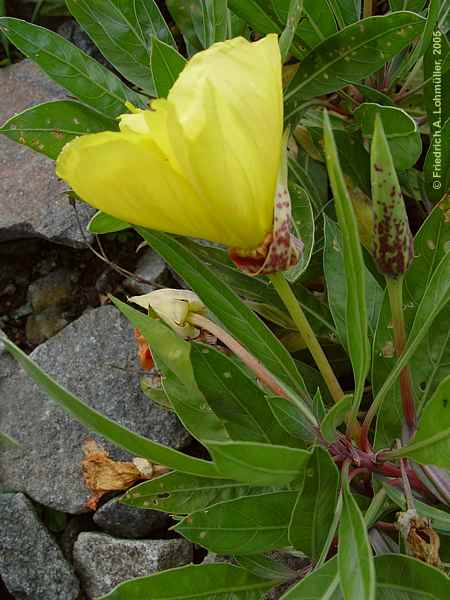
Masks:
[[[282,128],[277,36],[239,37],[196,54],[120,132],[71,141],[56,172],[121,220],[253,249],[272,231]]]

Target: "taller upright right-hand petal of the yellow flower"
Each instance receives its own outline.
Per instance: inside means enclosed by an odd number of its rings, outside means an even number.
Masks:
[[[256,43],[236,38],[199,52],[168,102],[179,123],[168,122],[172,150],[197,194],[208,199],[211,218],[222,221],[233,245],[258,246],[272,228],[280,163],[277,37]]]

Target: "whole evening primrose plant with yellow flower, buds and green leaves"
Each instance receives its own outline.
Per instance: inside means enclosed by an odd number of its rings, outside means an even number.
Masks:
[[[170,470],[123,502],[230,557],[105,598],[448,598],[449,170],[434,184],[422,149],[448,3],[365,2],[363,18],[353,1],[166,4],[184,55],[151,0],[67,1],[122,78],[0,19],[78,98],[1,131],[57,159],[101,211],[91,232],[134,227],[192,288],[113,302],[161,373],[148,394],[203,458],[109,421],[5,340],[89,429]]]

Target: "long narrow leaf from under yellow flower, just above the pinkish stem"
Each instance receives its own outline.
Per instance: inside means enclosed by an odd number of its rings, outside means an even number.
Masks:
[[[175,238],[142,228],[138,228],[138,232],[183,277],[231,335],[240,340],[289,393],[308,397],[290,354],[223,280]],[[309,413],[306,405],[304,412]]]

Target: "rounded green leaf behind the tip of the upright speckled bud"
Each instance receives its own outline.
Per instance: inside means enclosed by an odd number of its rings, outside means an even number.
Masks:
[[[402,171],[416,164],[422,153],[422,139],[416,122],[408,113],[394,106],[364,102],[353,114],[364,137],[369,140],[373,136],[375,116],[380,115],[396,169]]]

